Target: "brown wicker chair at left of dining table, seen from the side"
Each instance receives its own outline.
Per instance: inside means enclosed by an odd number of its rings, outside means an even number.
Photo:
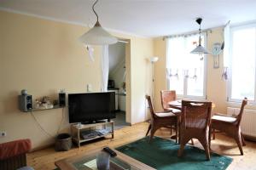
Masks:
[[[172,109],[172,111],[155,112],[150,96],[146,95],[146,99],[148,100],[148,106],[149,106],[150,115],[151,115],[150,125],[146,133],[146,136],[147,136],[150,131],[149,142],[151,142],[155,131],[160,127],[170,127],[170,128],[174,127],[175,131],[177,132],[177,114],[181,113],[181,111],[177,109]],[[176,135],[176,142],[177,142],[177,135]]]

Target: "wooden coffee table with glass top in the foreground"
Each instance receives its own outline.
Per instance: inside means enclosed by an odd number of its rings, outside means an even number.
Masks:
[[[60,161],[55,161],[55,166],[61,170],[97,170],[96,156],[101,151],[102,149],[92,150],[77,156],[67,157]],[[117,153],[117,156],[110,157],[110,170],[155,170],[153,167],[149,167],[141,161],[126,156],[118,150],[114,151]]]

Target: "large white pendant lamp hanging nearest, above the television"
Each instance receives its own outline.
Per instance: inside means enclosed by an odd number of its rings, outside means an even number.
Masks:
[[[96,0],[96,2],[92,5],[94,14],[96,14],[94,7],[97,2],[98,0]],[[81,37],[79,37],[79,41],[85,45],[109,45],[118,42],[116,37],[113,37],[108,33],[108,31],[105,31],[102,28],[101,24],[99,23],[98,14],[96,14],[96,17],[97,21],[95,26],[93,26],[90,31],[85,32]]]

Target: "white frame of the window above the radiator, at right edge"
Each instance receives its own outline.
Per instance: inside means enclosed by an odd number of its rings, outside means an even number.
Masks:
[[[232,99],[231,98],[231,93],[232,93],[232,55],[233,55],[233,32],[238,31],[238,30],[243,30],[246,28],[255,28],[256,29],[256,23],[253,24],[245,24],[245,25],[238,25],[238,26],[231,26],[230,27],[230,56],[229,56],[229,71],[228,71],[228,76],[230,77],[228,80],[228,102],[234,102],[234,103],[241,103],[242,99]],[[255,47],[256,49],[256,47]],[[256,56],[255,56],[255,75],[256,75]],[[256,105],[256,77],[254,78],[254,100],[251,100],[250,104]]]

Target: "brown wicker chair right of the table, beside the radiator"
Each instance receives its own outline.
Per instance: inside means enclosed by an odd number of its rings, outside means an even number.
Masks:
[[[215,130],[220,132],[226,133],[230,135],[233,139],[236,140],[236,144],[239,147],[241,155],[243,155],[242,145],[245,145],[245,141],[241,134],[241,116],[244,110],[245,105],[247,105],[247,98],[244,98],[241,102],[241,110],[239,115],[237,116],[227,116],[221,114],[215,114],[212,116],[212,122],[210,126],[210,132],[213,130],[213,139],[215,139]],[[210,146],[211,146],[211,139],[210,139]]]

